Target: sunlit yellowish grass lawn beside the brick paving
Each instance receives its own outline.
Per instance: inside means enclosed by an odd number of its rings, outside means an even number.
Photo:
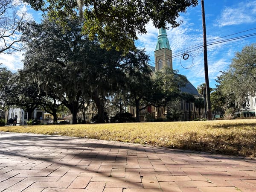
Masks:
[[[256,157],[256,119],[4,126],[0,131],[58,134]]]

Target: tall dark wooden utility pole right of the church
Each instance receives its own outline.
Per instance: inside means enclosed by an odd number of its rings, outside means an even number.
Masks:
[[[209,77],[208,77],[206,27],[205,27],[205,17],[204,17],[204,0],[201,0],[201,5],[202,5],[202,21],[203,21],[203,40],[204,40],[204,76],[205,76],[205,88],[206,88],[207,120],[212,120],[210,87],[209,87]]]

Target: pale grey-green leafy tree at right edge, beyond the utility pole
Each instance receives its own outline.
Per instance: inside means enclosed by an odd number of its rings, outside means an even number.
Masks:
[[[229,106],[243,108],[245,98],[256,93],[256,44],[245,46],[218,77],[219,89]]]

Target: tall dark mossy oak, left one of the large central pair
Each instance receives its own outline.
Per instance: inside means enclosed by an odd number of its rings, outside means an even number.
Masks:
[[[87,91],[86,86],[82,89],[81,81],[86,70],[87,49],[92,43],[81,35],[77,20],[69,21],[69,26],[72,30],[65,30],[46,18],[41,24],[30,23],[24,27],[27,44],[24,70],[47,96],[56,96],[70,109],[76,123],[81,97]]]

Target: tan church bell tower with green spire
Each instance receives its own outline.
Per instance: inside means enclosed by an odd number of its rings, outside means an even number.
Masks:
[[[172,50],[167,38],[166,29],[160,28],[158,31],[157,46],[154,51],[155,69],[163,70],[164,67],[172,69]]]

